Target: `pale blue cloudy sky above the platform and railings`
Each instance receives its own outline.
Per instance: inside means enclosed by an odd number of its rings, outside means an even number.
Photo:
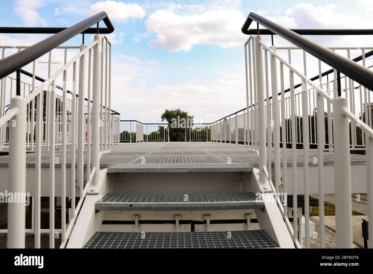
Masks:
[[[182,108],[208,123],[246,106],[247,38],[241,26],[250,11],[290,28],[369,28],[373,23],[370,1],[18,0],[1,1],[0,25],[68,27],[101,10],[115,26],[109,35],[112,108],[121,119],[148,123],[160,122],[165,108]],[[2,44],[10,45],[45,37],[0,35]],[[372,44],[364,37],[310,38],[326,46]],[[79,35],[65,44],[80,43]],[[275,44],[286,43],[275,38]]]

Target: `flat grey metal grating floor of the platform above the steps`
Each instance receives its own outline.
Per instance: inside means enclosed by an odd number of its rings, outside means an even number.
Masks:
[[[41,152],[42,166],[49,166],[50,153]],[[286,151],[286,162],[292,163],[292,150]],[[280,161],[283,157],[280,155]],[[294,155],[297,164],[303,165],[303,150],[299,149]],[[56,157],[61,157],[61,152],[56,151]],[[75,156],[76,157],[76,156]],[[308,163],[314,164],[317,158],[317,150],[310,149]],[[71,153],[66,154],[66,166],[71,166]],[[271,153],[273,161],[273,152]],[[350,154],[351,163],[365,163],[365,155]],[[307,160],[306,160],[307,161]],[[334,153],[323,153],[323,164],[333,164]],[[101,167],[112,167],[116,164],[247,164],[258,166],[258,155],[255,151],[248,151],[246,145],[235,145],[217,142],[142,142],[142,143],[120,143],[112,145],[110,153],[103,154],[100,160]],[[84,154],[86,166],[87,157]],[[9,156],[0,156],[0,167],[9,166]],[[26,154],[26,166],[35,166],[35,153]],[[61,164],[56,164],[61,166]],[[145,166],[144,166],[145,167]],[[143,168],[144,168],[143,167]],[[229,166],[233,167],[233,165]],[[153,168],[153,167],[151,167]],[[174,167],[172,167],[174,168]]]

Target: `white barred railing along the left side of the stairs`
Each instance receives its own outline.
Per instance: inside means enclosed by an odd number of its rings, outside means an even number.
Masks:
[[[9,188],[8,192],[25,193],[26,190],[26,148],[32,147],[35,153],[35,248],[40,248],[40,198],[41,198],[41,151],[43,145],[48,147],[50,212],[54,212],[55,198],[55,166],[56,146],[60,146],[61,164],[61,211],[66,212],[66,189],[71,192],[71,220],[67,224],[66,214],[61,220],[61,247],[65,247],[82,206],[87,189],[94,189],[100,182],[100,157],[110,152],[111,145],[119,142],[119,117],[111,114],[110,108],[110,66],[111,44],[105,36],[94,35],[92,44],[81,45],[79,53],[72,59],[67,58],[67,48],[64,51],[64,65],[51,73],[51,51],[48,59],[48,78],[43,83],[35,85],[36,60],[32,64],[32,92],[21,96],[11,96],[10,108],[5,114],[2,108],[0,117],[1,136],[9,127]],[[4,51],[3,51],[4,52]],[[88,62],[87,62],[88,60]],[[78,73],[78,76],[76,75]],[[1,80],[1,98],[5,98],[4,80]],[[20,79],[18,79],[20,81]],[[62,90],[57,91],[56,85],[62,81]],[[71,83],[72,98],[67,98],[68,83]],[[26,84],[25,84],[26,85]],[[45,104],[38,104],[43,102]],[[51,100],[56,98],[56,100]],[[87,98],[87,100],[85,100]],[[69,100],[69,101],[68,101]],[[2,106],[5,104],[1,102]],[[56,107],[58,104],[58,107]],[[31,105],[31,119],[28,113]],[[44,105],[44,106],[43,106]],[[25,119],[26,117],[26,119]],[[45,123],[44,123],[45,117]],[[32,124],[36,125],[35,130]],[[28,124],[31,124],[28,125]],[[43,132],[46,132],[45,135]],[[25,135],[32,135],[27,138]],[[34,141],[35,139],[35,141]],[[4,140],[4,139],[2,139]],[[3,141],[2,141],[3,142]],[[5,142],[5,141],[4,141]],[[30,144],[31,143],[31,144]],[[67,145],[70,144],[68,147]],[[4,143],[1,143],[3,147]],[[84,155],[85,153],[85,155]],[[67,178],[67,155],[70,154],[71,177]],[[87,172],[84,178],[84,158],[87,162]],[[69,186],[66,182],[70,181]],[[79,193],[75,193],[76,186]],[[79,202],[75,198],[79,197]],[[8,204],[8,236],[9,248],[24,248],[25,246],[25,206],[23,203]],[[49,223],[54,224],[54,214],[50,214]],[[67,225],[67,226],[66,226]],[[54,248],[54,226],[50,226],[50,248]]]

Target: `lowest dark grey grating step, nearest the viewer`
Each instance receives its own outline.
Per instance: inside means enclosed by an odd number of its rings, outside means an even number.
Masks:
[[[84,248],[279,248],[279,245],[264,230],[96,232]]]

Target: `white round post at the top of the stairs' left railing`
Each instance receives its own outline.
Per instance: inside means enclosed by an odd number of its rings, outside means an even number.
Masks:
[[[100,42],[100,35],[95,35],[94,41]],[[99,44],[93,47],[93,86],[92,86],[92,168],[96,172],[92,179],[92,185],[97,186],[100,183],[100,73],[101,73],[101,50]]]

